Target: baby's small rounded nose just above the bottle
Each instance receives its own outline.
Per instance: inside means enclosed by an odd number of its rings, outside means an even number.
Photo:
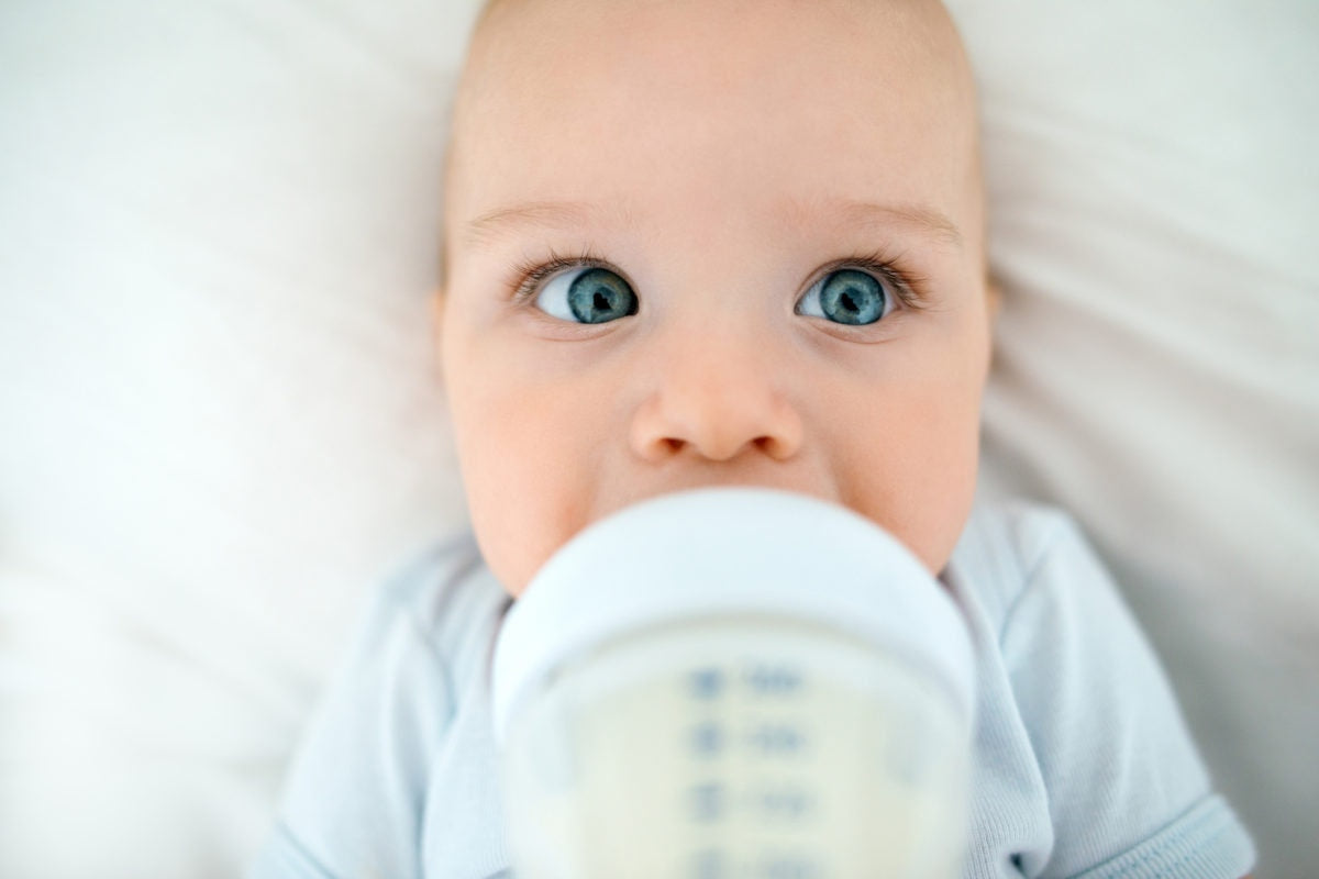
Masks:
[[[802,419],[785,393],[783,366],[768,362],[764,340],[719,336],[707,328],[660,365],[657,386],[632,419],[632,448],[644,460],[728,461],[752,452],[787,460],[801,448]]]

